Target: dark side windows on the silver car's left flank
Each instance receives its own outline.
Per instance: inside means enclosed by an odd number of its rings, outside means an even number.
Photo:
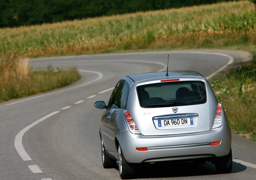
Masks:
[[[124,80],[117,83],[110,100],[108,107],[126,108],[127,98],[129,94],[129,85]]]

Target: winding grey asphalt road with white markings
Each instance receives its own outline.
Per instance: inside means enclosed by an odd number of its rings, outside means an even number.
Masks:
[[[164,51],[31,59],[33,68],[76,66],[82,79],[71,86],[0,103],[0,179],[120,179],[101,163],[99,126],[112,88],[125,75],[194,70],[210,78],[250,59],[242,51]],[[224,105],[225,106],[225,105]],[[213,164],[190,162],[141,167],[144,179],[255,179],[256,143],[232,134],[233,169],[219,175]]]

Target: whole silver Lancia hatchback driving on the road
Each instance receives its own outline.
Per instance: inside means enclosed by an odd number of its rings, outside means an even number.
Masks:
[[[195,71],[124,76],[101,117],[104,168],[130,178],[135,164],[211,161],[218,173],[232,169],[231,131],[222,105],[205,77]]]

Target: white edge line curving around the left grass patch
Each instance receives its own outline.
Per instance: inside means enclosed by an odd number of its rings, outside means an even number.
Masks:
[[[27,99],[24,99],[24,100],[20,100],[20,101],[15,101],[15,102],[12,102],[12,103],[9,103],[9,104],[6,104],[5,106],[10,106],[12,104],[17,104],[17,103],[20,103],[20,102],[24,102],[24,101],[28,101],[28,100],[31,100],[31,99],[36,99],[36,98],[40,98],[40,97],[44,97],[44,96],[48,96],[48,95],[52,95],[52,94],[56,94],[56,93],[60,93],[60,92],[63,92],[63,91],[68,91],[68,90],[71,90],[71,89],[75,89],[75,88],[78,88],[78,87],[82,87],[82,86],[86,86],[90,83],[93,83],[99,79],[101,79],[103,77],[103,74],[100,73],[100,72],[97,72],[97,71],[87,71],[87,70],[78,70],[78,71],[81,71],[81,72],[90,72],[90,73],[95,73],[98,75],[98,78],[97,79],[94,79],[92,81],[89,81],[87,83],[84,83],[84,84],[81,84],[79,86],[74,86],[74,87],[70,87],[70,88],[67,88],[67,89],[63,89],[63,90],[59,90],[59,91],[55,91],[55,92],[52,92],[52,93],[48,93],[48,94],[42,94],[42,95],[38,95],[38,96],[34,96],[34,97],[31,97],[31,98],[27,98]]]

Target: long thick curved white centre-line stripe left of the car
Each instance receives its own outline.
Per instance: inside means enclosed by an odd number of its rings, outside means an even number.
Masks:
[[[28,125],[27,127],[25,127],[24,129],[22,129],[15,137],[14,140],[14,146],[17,150],[17,152],[20,154],[20,157],[23,159],[23,161],[31,161],[32,159],[29,157],[29,155],[27,154],[27,152],[24,149],[24,146],[22,145],[22,137],[25,134],[25,132],[27,132],[30,128],[32,128],[33,126],[35,126],[36,124],[44,121],[46,118],[53,116],[57,113],[59,113],[60,111],[54,111],[51,114],[48,114],[44,117],[42,117],[41,119],[38,119],[37,121],[35,121],[34,123]]]

